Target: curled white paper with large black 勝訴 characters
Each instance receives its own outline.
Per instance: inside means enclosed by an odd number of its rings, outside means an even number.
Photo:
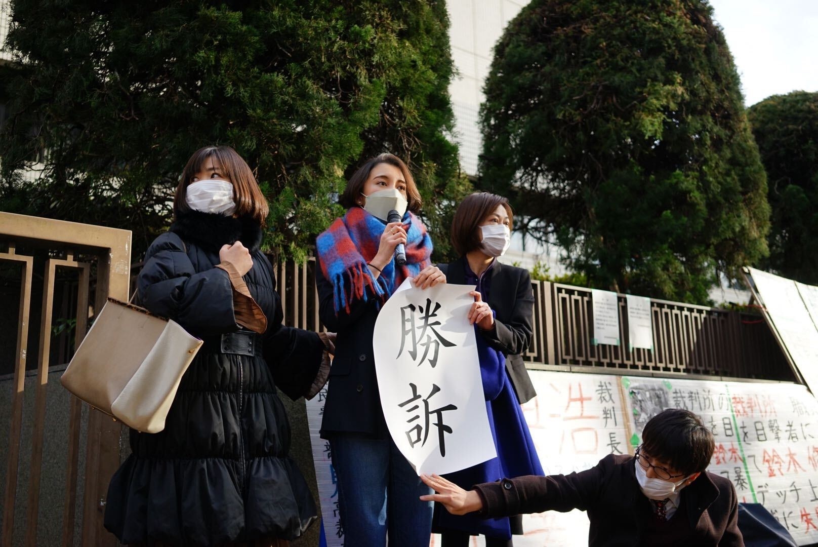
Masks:
[[[399,289],[375,322],[380,405],[393,441],[418,474],[497,457],[467,319],[470,291],[473,285],[446,283]]]

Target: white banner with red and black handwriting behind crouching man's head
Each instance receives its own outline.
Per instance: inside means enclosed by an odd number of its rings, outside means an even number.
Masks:
[[[622,377],[622,387],[632,444],[663,409],[698,414],[716,441],[708,471],[732,481],[739,503],[764,505],[798,545],[816,545],[818,401],[806,387],[681,377]]]

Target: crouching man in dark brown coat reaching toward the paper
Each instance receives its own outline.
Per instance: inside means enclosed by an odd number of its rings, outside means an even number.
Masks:
[[[701,418],[668,409],[651,418],[636,455],[609,454],[570,475],[529,475],[463,490],[437,475],[422,476],[454,514],[486,518],[587,511],[588,545],[744,545],[733,484],[705,471],[715,442]]]

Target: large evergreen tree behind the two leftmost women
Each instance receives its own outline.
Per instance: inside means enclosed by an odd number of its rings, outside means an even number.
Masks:
[[[134,230],[168,224],[187,157],[228,144],[271,214],[266,243],[303,257],[343,211],[345,174],[395,151],[435,199],[461,188],[443,2],[12,0],[0,67],[0,209]],[[43,174],[20,168],[40,157]],[[433,223],[434,225],[434,223]],[[439,230],[439,227],[438,227]],[[434,233],[435,241],[447,241]]]

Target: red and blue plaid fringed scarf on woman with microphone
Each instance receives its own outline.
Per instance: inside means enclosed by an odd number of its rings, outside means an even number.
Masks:
[[[407,212],[403,215],[403,228],[407,231],[406,265],[396,267],[392,260],[373,279],[366,263],[375,258],[384,227],[383,220],[361,207],[352,207],[317,237],[321,271],[334,291],[335,314],[342,309],[349,311],[353,298],[367,301],[374,296],[383,304],[406,278],[415,277],[429,265],[432,240],[420,219]]]

